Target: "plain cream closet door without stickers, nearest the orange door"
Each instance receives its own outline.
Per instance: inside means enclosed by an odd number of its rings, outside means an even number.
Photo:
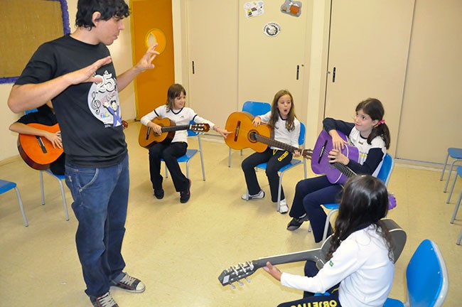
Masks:
[[[237,110],[237,3],[187,2],[188,104],[224,127]]]

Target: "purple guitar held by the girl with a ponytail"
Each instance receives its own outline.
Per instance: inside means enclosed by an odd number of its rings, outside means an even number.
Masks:
[[[347,141],[347,136],[340,131],[337,131],[342,139]],[[311,155],[311,169],[314,173],[326,174],[326,177],[330,183],[345,183],[348,178],[356,176],[356,173],[351,170],[348,166],[342,163],[329,163],[328,154],[333,149],[332,137],[326,130],[322,130],[314,145],[313,154]],[[353,145],[345,144],[342,149],[342,154],[347,156],[350,160],[358,162],[359,151]],[[388,194],[388,209],[396,207],[396,198],[393,194]]]

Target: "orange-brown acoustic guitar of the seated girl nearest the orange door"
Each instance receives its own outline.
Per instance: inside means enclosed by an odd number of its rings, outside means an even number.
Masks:
[[[162,134],[156,134],[154,133],[154,129],[151,127],[141,125],[138,143],[141,147],[146,149],[149,149],[149,147],[156,143],[170,144],[175,136],[175,131],[191,130],[195,132],[207,132],[210,130],[209,124],[187,124],[176,126],[175,122],[168,118],[161,119],[160,117],[156,117],[151,122],[154,122],[154,124],[158,124],[162,127]]]

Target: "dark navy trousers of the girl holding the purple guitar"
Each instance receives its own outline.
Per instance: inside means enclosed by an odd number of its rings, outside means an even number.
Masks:
[[[299,181],[295,188],[294,202],[289,215],[301,217],[306,213],[311,223],[315,242],[321,242],[327,218],[321,205],[339,203],[342,190],[341,185],[330,183],[326,176]],[[331,232],[332,229],[329,227],[328,235]]]

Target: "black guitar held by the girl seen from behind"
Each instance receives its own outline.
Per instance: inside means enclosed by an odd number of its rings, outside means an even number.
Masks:
[[[399,256],[401,255],[404,245],[406,244],[407,235],[404,230],[402,230],[399,225],[397,225],[394,220],[383,219],[385,226],[387,227],[390,235],[392,237],[392,251],[394,262],[397,262]],[[222,286],[230,285],[232,289],[235,289],[233,282],[237,282],[242,286],[241,279],[246,279],[247,282],[250,282],[247,279],[248,276],[252,275],[257,271],[257,269],[262,268],[267,265],[267,262],[271,264],[287,264],[292,262],[302,262],[302,261],[312,261],[316,263],[318,269],[322,269],[324,264],[328,262],[327,254],[329,249],[331,249],[331,237],[328,237],[326,241],[323,242],[321,248],[310,249],[303,252],[295,252],[291,254],[281,254],[272,257],[259,258],[257,260],[252,260],[250,262],[244,262],[237,264],[235,266],[230,266],[230,268],[222,271],[220,276],[218,276],[218,281]]]

